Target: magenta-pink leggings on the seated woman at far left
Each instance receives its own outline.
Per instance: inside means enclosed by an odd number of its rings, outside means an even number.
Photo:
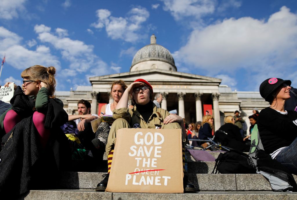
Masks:
[[[4,130],[6,133],[15,127],[15,125],[20,122],[21,117],[13,110],[10,110],[6,113],[4,118]],[[50,136],[50,130],[44,128],[45,123],[45,114],[34,112],[33,113],[33,123],[39,134],[39,139],[43,148],[45,148],[48,138]]]

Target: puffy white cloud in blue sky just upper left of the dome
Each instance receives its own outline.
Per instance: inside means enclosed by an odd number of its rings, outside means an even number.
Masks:
[[[91,26],[98,29],[105,27],[111,39],[135,42],[144,37],[142,23],[149,18],[149,11],[146,8],[134,7],[127,13],[127,17],[113,17],[107,9],[99,9],[96,14],[98,20]]]

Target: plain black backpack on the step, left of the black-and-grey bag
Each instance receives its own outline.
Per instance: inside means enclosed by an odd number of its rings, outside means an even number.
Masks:
[[[249,155],[237,150],[220,153],[216,159],[214,170],[221,174],[255,174],[256,168]],[[214,170],[212,174],[214,174]]]

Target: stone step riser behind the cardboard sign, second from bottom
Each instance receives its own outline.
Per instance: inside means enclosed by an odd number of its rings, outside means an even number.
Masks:
[[[62,172],[60,188],[94,189],[103,179],[101,172]],[[200,191],[271,191],[261,174],[188,174]],[[295,180],[297,180],[294,175]]]

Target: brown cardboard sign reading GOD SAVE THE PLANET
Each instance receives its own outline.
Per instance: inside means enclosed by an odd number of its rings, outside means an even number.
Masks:
[[[183,193],[181,129],[119,129],[106,191]]]

